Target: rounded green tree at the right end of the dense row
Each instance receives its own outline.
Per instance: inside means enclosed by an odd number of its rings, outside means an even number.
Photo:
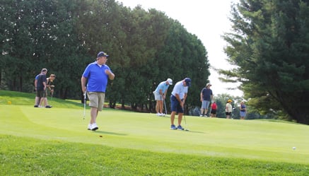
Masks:
[[[200,105],[200,91],[210,75],[209,61],[206,49],[196,35],[188,33],[177,20],[171,20],[171,24],[165,45],[157,57],[163,73],[160,76],[164,76],[160,80],[170,77],[177,83],[186,77],[192,79],[186,100],[186,112],[189,112],[190,108]]]

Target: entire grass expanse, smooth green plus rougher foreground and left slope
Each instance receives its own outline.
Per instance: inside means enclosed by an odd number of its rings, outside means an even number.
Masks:
[[[33,108],[34,96],[0,90],[0,175],[309,175],[306,125],[186,116],[190,131],[172,131],[105,108],[93,132],[81,103]]]

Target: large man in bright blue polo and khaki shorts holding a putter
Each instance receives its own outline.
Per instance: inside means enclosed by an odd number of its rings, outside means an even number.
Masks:
[[[83,76],[81,76],[81,89],[83,93],[87,93],[90,101],[89,106],[91,107],[91,120],[88,124],[88,130],[95,131],[99,129],[95,120],[98,117],[98,112],[103,110],[107,81],[108,78],[110,80],[115,78],[115,74],[105,64],[107,57],[108,55],[105,52],[99,52],[96,61],[88,64],[85,71],[83,71]]]

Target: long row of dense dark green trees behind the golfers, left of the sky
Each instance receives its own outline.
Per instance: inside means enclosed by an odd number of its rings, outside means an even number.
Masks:
[[[47,68],[47,76],[57,76],[55,97],[81,98],[83,70],[105,51],[116,76],[107,88],[111,107],[152,109],[152,92],[168,77],[192,78],[187,104],[200,103],[209,76],[206,49],[161,11],[115,0],[0,0],[0,16],[2,89],[31,92],[35,75]]]

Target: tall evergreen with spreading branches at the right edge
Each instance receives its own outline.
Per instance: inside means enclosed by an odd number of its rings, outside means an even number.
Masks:
[[[246,98],[264,114],[309,124],[309,1],[240,0],[225,51]]]

